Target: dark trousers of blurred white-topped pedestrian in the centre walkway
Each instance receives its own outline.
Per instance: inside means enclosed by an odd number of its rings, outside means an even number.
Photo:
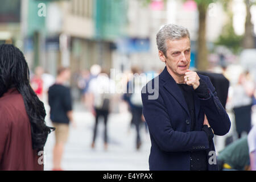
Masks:
[[[96,118],[95,118],[95,125],[94,125],[94,130],[93,130],[93,142],[96,140],[96,135],[97,135],[97,127],[98,127],[98,120],[102,116],[104,118],[104,142],[108,143],[108,136],[107,136],[107,122],[108,122],[108,115],[109,111],[108,110],[100,110],[100,109],[95,109],[96,111]]]

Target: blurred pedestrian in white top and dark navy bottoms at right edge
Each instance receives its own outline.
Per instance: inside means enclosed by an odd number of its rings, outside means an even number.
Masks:
[[[238,83],[233,88],[233,111],[238,138],[242,133],[248,134],[251,129],[251,106],[253,104],[254,84],[241,73]]]

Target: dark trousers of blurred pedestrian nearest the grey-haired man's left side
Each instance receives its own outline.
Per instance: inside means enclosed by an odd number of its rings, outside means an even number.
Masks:
[[[136,142],[137,144],[141,143],[141,135],[139,134],[139,129],[142,123],[142,107],[133,107],[131,108],[131,114],[133,115],[133,123],[136,127],[136,133],[137,133],[137,138]]]

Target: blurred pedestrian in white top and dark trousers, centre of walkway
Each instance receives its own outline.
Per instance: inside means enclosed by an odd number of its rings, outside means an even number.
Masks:
[[[93,129],[92,148],[95,147],[95,140],[97,137],[98,122],[101,117],[104,119],[104,148],[108,149],[108,131],[107,123],[110,112],[111,96],[114,93],[114,83],[110,80],[108,74],[105,71],[101,71],[101,74],[90,81],[88,92],[92,93],[93,105],[91,111],[95,116],[95,125]]]

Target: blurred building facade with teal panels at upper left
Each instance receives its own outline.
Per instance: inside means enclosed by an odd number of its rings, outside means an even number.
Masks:
[[[61,65],[73,73],[93,64],[112,68],[115,40],[126,35],[126,0],[20,2],[16,6],[21,7],[22,21],[16,35],[32,70],[40,65],[56,75]],[[46,14],[40,16],[44,7]]]

